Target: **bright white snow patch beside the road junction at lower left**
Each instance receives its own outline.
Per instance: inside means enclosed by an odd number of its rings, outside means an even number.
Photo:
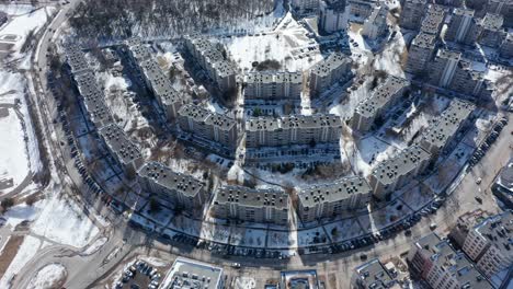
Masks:
[[[98,234],[99,229],[73,201],[54,196],[45,204],[32,231],[60,244],[83,247]]]

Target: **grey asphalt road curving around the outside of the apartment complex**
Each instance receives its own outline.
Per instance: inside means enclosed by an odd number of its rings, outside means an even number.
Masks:
[[[48,25],[41,38],[35,58],[37,68],[35,80],[39,88],[47,88],[46,51],[53,41],[54,33],[58,33],[62,23],[67,20],[68,13],[72,12],[80,2],[80,0],[70,1],[69,4],[65,5],[54,21]],[[38,91],[36,95],[33,95],[33,97],[36,97],[36,103],[41,104],[38,105],[37,111],[39,117],[44,120],[45,129],[47,129],[48,134],[46,134],[46,136],[52,136],[52,134],[55,134],[54,136],[56,136],[55,139],[47,139],[46,144],[48,144],[50,149],[53,161],[55,163],[61,162],[64,165],[62,167],[66,166],[69,169],[69,164],[72,161],[69,154],[66,151],[62,151],[57,141],[62,137],[62,132],[54,128],[52,125],[52,119],[55,115],[55,106],[50,103],[53,97],[48,95],[50,94],[47,91]],[[513,117],[510,115],[510,118]],[[98,238],[107,238],[107,242],[98,252],[86,256],[81,254],[81,251],[83,250],[65,245],[55,244],[45,247],[39,251],[18,275],[13,281],[13,288],[27,288],[30,280],[35,276],[37,270],[49,263],[60,263],[66,266],[68,278],[65,287],[94,287],[95,284],[101,282],[106,276],[118,270],[119,266],[123,266],[123,262],[126,261],[127,257],[136,254],[155,254],[156,252],[167,259],[174,259],[174,257],[181,255],[207,263],[225,264],[228,266],[231,262],[239,262],[242,264],[242,270],[233,270],[227,266],[227,271],[233,275],[248,275],[259,280],[276,277],[278,276],[280,270],[283,269],[316,268],[318,274],[321,276],[334,276],[337,288],[347,288],[347,280],[351,278],[352,269],[362,263],[360,259],[362,254],[366,254],[369,258],[379,256],[381,259],[397,256],[398,254],[407,252],[413,240],[429,233],[429,227],[433,222],[437,223],[436,232],[446,234],[448,228],[455,223],[457,217],[468,210],[480,207],[494,212],[497,210],[497,204],[494,203],[494,198],[489,188],[500,167],[502,167],[502,165],[511,158],[511,146],[513,146],[513,139],[510,132],[512,130],[513,119],[504,128],[495,144],[493,144],[487,152],[486,158],[483,158],[478,165],[476,165],[460,180],[459,185],[455,188],[454,193],[447,198],[444,206],[436,212],[436,215],[423,218],[419,223],[411,228],[412,234],[410,236],[406,236],[404,233],[399,233],[396,238],[381,241],[373,246],[341,254],[294,256],[288,261],[250,259],[242,257],[230,257],[227,259],[217,255],[212,255],[208,251],[194,248],[181,250],[168,244],[162,244],[155,240],[153,235],[147,234],[142,231],[133,230],[127,227],[125,219],[119,216],[112,215],[110,210],[105,208],[102,209],[102,206],[99,205],[98,208],[102,210],[99,213],[102,213],[107,219],[115,221],[112,222],[111,226],[103,228],[94,220],[94,215],[90,215],[90,218],[101,228],[101,234]],[[50,169],[55,172],[57,171],[55,166]],[[476,180],[478,177],[482,178],[480,185],[476,184]],[[66,182],[69,182],[68,178],[61,177],[61,180],[56,181],[60,184],[57,186],[70,189],[65,185]],[[81,184],[79,183],[80,180],[75,178],[72,181],[77,187],[81,187]],[[481,196],[483,200],[482,205],[478,204],[475,199],[475,196],[478,195]],[[258,286],[260,287],[260,284]]]

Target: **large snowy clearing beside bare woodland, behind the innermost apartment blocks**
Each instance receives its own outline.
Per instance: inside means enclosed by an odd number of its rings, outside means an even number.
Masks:
[[[276,60],[280,70],[301,71],[322,60],[318,45],[307,37],[308,31],[288,13],[275,31],[224,38],[230,58],[244,72],[252,70],[254,61]]]

